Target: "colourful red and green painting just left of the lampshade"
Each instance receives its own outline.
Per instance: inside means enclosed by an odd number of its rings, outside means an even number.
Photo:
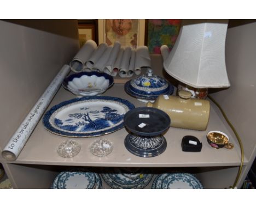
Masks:
[[[148,20],[147,45],[149,52],[161,53],[162,45],[167,45],[172,50],[180,27],[181,20]]]

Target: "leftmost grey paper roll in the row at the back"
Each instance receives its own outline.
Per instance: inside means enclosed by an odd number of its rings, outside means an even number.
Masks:
[[[85,62],[89,60],[89,58],[91,57],[91,54],[95,51],[96,48],[97,48],[97,44],[95,41],[93,40],[86,41],[83,47],[80,48],[78,53],[69,63],[71,70],[74,72],[82,71],[84,68]]]

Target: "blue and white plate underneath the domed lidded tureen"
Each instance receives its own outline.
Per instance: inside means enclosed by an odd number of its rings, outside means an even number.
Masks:
[[[136,97],[137,99],[144,99],[144,100],[155,100],[158,98],[159,95],[172,95],[173,93],[173,86],[170,84],[168,85],[168,87],[165,90],[162,91],[158,91],[157,93],[153,94],[153,93],[148,93],[147,91],[143,91],[141,94],[138,92],[138,90],[132,90],[131,88],[131,81],[128,81],[125,83],[125,91],[127,94]]]

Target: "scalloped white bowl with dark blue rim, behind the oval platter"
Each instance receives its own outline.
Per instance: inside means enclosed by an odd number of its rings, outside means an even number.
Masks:
[[[112,76],[96,71],[72,74],[62,82],[63,88],[78,96],[100,95],[113,84]]]

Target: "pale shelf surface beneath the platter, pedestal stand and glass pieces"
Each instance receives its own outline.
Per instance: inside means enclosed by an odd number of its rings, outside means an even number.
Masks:
[[[146,106],[146,103],[139,102],[126,94],[123,84],[114,84],[103,95],[121,97],[131,101],[136,107]],[[74,97],[75,95],[60,88],[49,108]],[[212,130],[219,130],[228,134],[230,142],[234,143],[235,148],[232,150],[212,148],[206,140],[207,132]],[[94,156],[89,151],[90,144],[98,137],[73,138],[82,146],[81,151],[75,157],[62,158],[57,154],[56,148],[67,137],[49,132],[44,128],[42,120],[40,120],[18,159],[12,163],[94,167],[210,167],[240,165],[240,149],[236,144],[236,139],[214,106],[211,106],[210,122],[206,131],[170,127],[164,135],[167,140],[167,148],[161,155],[156,157],[143,158],[131,154],[124,146],[126,135],[127,131],[123,128],[101,136],[109,139],[114,145],[112,153],[106,157]],[[181,140],[185,135],[193,135],[199,138],[203,145],[201,152],[182,151]],[[247,160],[245,160],[246,163]]]

